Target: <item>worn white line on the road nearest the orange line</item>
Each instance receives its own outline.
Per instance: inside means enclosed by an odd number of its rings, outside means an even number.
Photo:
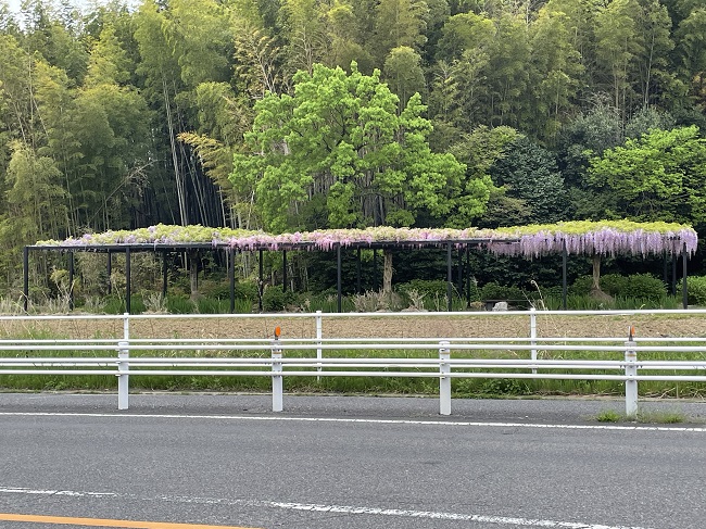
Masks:
[[[556,521],[531,518],[515,518],[506,516],[487,516],[477,514],[443,513],[433,511],[411,511],[400,508],[361,507],[351,505],[324,505],[315,503],[267,502],[253,500],[228,500],[225,497],[191,497],[191,496],[154,496],[139,497],[135,494],[121,494],[117,492],[86,492],[68,490],[25,489],[21,487],[0,487],[0,494],[27,494],[27,495],[64,495],[72,497],[101,497],[117,500],[138,500],[144,502],[169,502],[182,504],[211,504],[234,505],[247,507],[283,508],[289,511],[308,511],[312,513],[338,513],[350,515],[369,516],[396,516],[402,518],[421,518],[450,521],[472,521],[477,524],[495,524],[499,526],[543,527],[556,529],[648,529],[634,526],[606,526],[583,524],[577,521]]]

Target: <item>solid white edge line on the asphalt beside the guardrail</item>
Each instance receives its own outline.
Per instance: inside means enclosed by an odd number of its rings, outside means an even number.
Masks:
[[[629,431],[691,431],[704,433],[704,427],[678,426],[625,426],[625,425],[551,425],[538,423],[479,423],[468,420],[411,420],[411,419],[356,419],[329,417],[275,417],[252,415],[176,415],[176,414],[130,414],[130,413],[71,413],[71,412],[0,412],[0,417],[112,417],[146,419],[209,419],[209,420],[254,420],[290,423],[348,423],[374,425],[421,425],[421,426],[472,426],[491,428],[546,428],[558,430],[629,430]]]

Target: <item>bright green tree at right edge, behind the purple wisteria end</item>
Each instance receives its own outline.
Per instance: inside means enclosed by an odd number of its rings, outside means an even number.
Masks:
[[[632,219],[706,222],[706,140],[694,126],[629,138],[592,159],[589,177]]]

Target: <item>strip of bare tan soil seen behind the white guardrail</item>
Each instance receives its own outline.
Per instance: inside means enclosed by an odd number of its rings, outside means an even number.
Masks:
[[[689,316],[555,316],[538,313],[540,337],[626,337],[632,325],[638,337],[705,337],[706,315]],[[275,327],[282,338],[315,338],[313,317],[287,318],[277,314],[237,318],[185,315],[178,319],[135,316],[133,338],[270,338]],[[61,338],[114,338],[123,336],[121,319],[0,319],[3,336],[47,335]],[[478,316],[436,316],[433,313],[379,317],[325,317],[324,338],[464,338],[528,337],[528,316],[479,313]]]

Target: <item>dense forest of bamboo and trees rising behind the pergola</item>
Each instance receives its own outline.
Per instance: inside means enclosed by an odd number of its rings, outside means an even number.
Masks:
[[[312,148],[274,188],[291,189],[298,171],[316,178],[273,216],[252,160],[292,153],[264,152],[262,136],[290,127],[285,114],[297,111],[282,105],[295,87],[332,79],[358,96],[367,83],[368,103],[392,105],[390,141],[407,149],[395,163],[424,159],[454,181],[425,194],[426,165],[405,191],[392,179],[409,175],[379,169],[393,162],[377,154],[366,171],[388,180],[343,179],[330,171],[339,159],[307,166]],[[297,109],[322,104],[307,93]],[[27,243],[156,223],[627,217],[689,223],[703,236],[705,105],[703,0],[144,0],[84,11],[24,0],[18,15],[0,2],[0,287],[21,282]],[[305,134],[330,153],[329,122]],[[418,199],[430,193],[442,200]],[[360,207],[341,205],[351,202]]]

